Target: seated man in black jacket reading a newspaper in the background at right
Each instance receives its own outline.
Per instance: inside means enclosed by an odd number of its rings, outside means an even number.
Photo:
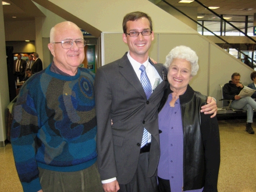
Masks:
[[[231,76],[231,81],[226,83],[223,87],[223,97],[224,99],[234,100],[230,104],[231,108],[243,109],[247,112],[247,123],[246,129],[249,134],[254,134],[251,127],[253,118],[253,109],[256,109],[256,102],[251,97],[239,96],[240,91],[244,88],[243,84],[240,82],[240,74],[233,73]]]

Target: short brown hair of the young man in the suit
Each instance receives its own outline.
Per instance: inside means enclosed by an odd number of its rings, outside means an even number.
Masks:
[[[145,17],[148,19],[148,21],[150,22],[150,30],[153,30],[153,26],[152,26],[152,19],[150,16],[148,16],[146,13],[140,12],[140,11],[136,11],[136,12],[132,12],[132,13],[128,13],[123,17],[123,33],[126,33],[127,27],[126,27],[126,23],[129,22],[129,20],[138,20],[141,17]]]

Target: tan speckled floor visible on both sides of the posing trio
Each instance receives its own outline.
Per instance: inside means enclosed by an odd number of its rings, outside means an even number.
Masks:
[[[256,192],[256,134],[250,135],[245,131],[245,122],[245,119],[219,120],[219,192]],[[255,127],[256,131],[256,123],[253,123],[252,127]],[[0,192],[23,191],[10,143],[0,147],[0,162]]]

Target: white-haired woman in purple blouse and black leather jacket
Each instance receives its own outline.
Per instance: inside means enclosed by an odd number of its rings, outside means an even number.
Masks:
[[[159,106],[159,191],[218,191],[218,121],[200,113],[207,97],[188,84],[197,74],[198,56],[179,46],[169,52],[164,65],[169,86]]]

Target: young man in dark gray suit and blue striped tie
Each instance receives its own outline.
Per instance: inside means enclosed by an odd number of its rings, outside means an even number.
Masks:
[[[125,15],[123,41],[129,52],[96,73],[97,161],[108,192],[157,191],[157,109],[168,81],[166,69],[148,58],[152,40],[150,16]],[[209,106],[204,111],[217,110],[215,101]]]

